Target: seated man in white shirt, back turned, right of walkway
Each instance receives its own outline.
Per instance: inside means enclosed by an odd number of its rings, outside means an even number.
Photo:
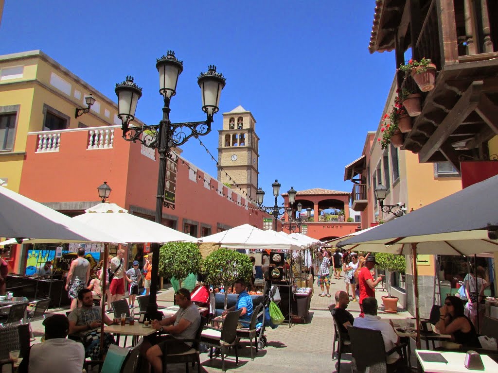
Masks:
[[[382,339],[384,340],[385,351],[389,351],[399,344],[399,337],[394,331],[392,322],[383,322],[380,317],[377,316],[377,299],[373,296],[365,298],[363,300],[363,312],[365,313],[365,317],[355,318],[353,326],[380,331]],[[393,352],[387,356],[387,364],[394,364],[400,360],[399,358],[399,354],[397,352]],[[399,361],[399,363],[402,362]]]

